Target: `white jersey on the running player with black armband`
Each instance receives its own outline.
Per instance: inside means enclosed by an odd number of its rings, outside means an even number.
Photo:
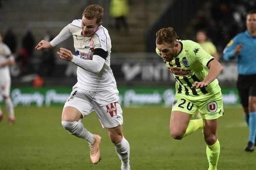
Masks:
[[[116,88],[116,80],[110,68],[111,39],[108,30],[100,26],[92,37],[84,37],[81,35],[81,20],[74,20],[70,24],[70,31],[73,34],[76,57],[92,60],[93,50],[96,48],[102,48],[108,52],[108,57],[99,74],[80,67],[77,68],[76,86],[88,91],[105,91]]]

